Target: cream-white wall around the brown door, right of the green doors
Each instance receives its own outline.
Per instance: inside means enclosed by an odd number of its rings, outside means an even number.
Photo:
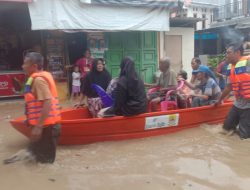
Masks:
[[[165,35],[181,35],[182,36],[182,65],[183,69],[188,73],[188,78],[191,77],[191,59],[194,57],[194,29],[170,27],[169,32],[160,32],[159,37],[159,57],[169,56],[164,49]]]

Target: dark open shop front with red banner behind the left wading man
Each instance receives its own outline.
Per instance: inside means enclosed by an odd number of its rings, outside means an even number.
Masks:
[[[23,95],[26,81],[22,71],[23,58],[26,53],[35,51],[44,55],[44,69],[53,75],[60,99],[66,99],[65,45],[62,31],[31,30],[26,3],[0,2],[0,98]]]

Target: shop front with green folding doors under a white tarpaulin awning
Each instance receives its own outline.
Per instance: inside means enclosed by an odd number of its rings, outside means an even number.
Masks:
[[[124,56],[152,82],[158,67],[157,32],[169,30],[169,12],[178,1],[36,1],[29,4],[33,30],[65,32],[68,63],[74,64],[86,48],[103,57],[113,77]],[[70,75],[69,75],[70,76]]]

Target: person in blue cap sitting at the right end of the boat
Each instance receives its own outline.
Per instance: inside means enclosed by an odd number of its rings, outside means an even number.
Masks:
[[[193,85],[185,81],[185,84],[189,88],[201,90],[201,94],[191,95],[193,97],[192,107],[206,106],[215,103],[221,95],[221,89],[216,82],[214,74],[205,65],[200,65],[194,72],[197,73],[197,79],[200,81],[200,84]]]

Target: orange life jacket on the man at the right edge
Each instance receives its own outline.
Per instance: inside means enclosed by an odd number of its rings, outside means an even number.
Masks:
[[[229,64],[227,74],[236,99],[250,99],[250,66],[249,56],[242,57],[236,64]]]

